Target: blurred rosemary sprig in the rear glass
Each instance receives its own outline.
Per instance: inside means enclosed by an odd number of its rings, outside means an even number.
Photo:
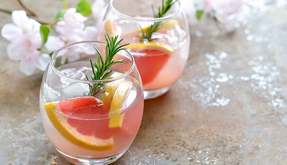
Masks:
[[[164,0],[162,0],[162,7],[158,8],[159,12],[157,14],[155,13],[154,5],[152,4],[154,18],[163,17],[171,9],[173,4],[175,4],[177,1],[178,0],[167,0],[166,2],[164,2]],[[162,21],[159,21],[159,22],[153,23],[150,27],[148,27],[146,31],[141,29],[140,42],[152,40],[152,34],[158,31],[161,26],[162,26]]]

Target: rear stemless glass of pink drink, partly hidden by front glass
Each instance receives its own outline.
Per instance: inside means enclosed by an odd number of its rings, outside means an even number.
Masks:
[[[174,1],[163,17],[154,18],[153,11],[157,14],[162,3],[163,0],[111,0],[101,30],[101,36],[106,32],[121,35],[122,44],[130,43],[126,48],[134,57],[145,99],[168,92],[182,74],[189,55],[190,33],[180,2]],[[160,26],[150,40],[141,40],[142,32],[156,24]]]

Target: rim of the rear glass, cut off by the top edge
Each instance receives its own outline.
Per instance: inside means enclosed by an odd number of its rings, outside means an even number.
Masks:
[[[128,15],[125,15],[121,12],[119,12],[114,6],[113,6],[113,2],[116,0],[110,0],[109,3],[109,8],[112,10],[113,13],[115,13],[116,15],[126,19],[126,20],[132,20],[132,21],[141,21],[141,22],[162,22],[165,20],[171,20],[173,18],[175,18],[177,15],[179,15],[182,12],[182,7],[179,1],[176,1],[176,3],[178,4],[178,8],[179,10],[176,10],[176,12],[172,13],[171,15],[168,16],[164,16],[161,18],[148,18],[148,17],[142,17],[142,18],[137,18],[137,17],[131,17]]]

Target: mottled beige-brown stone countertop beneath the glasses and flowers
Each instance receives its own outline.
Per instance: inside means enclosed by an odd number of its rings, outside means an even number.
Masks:
[[[38,1],[23,2],[53,18]],[[50,4],[41,1],[58,11]],[[16,0],[0,7],[21,9]],[[139,132],[114,164],[287,164],[287,6],[264,10],[232,34],[191,26],[184,73],[166,95],[145,101]],[[0,13],[0,28],[7,23]],[[42,72],[22,74],[8,44],[0,38],[0,162],[70,164],[42,128]]]

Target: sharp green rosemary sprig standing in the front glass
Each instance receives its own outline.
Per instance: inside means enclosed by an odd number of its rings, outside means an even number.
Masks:
[[[124,50],[124,46],[128,45],[128,44],[124,44],[124,45],[119,45],[120,42],[123,40],[118,40],[118,36],[115,37],[110,37],[109,34],[107,33],[107,36],[105,35],[105,39],[106,39],[106,52],[105,52],[105,60],[103,60],[103,57],[100,53],[100,51],[94,47],[97,51],[97,53],[99,54],[98,58],[97,58],[97,62],[93,62],[92,58],[90,58],[90,63],[91,63],[91,67],[92,67],[92,71],[93,74],[91,74],[91,80],[103,80],[103,79],[107,79],[109,77],[109,75],[112,73],[112,69],[107,71],[112,65],[116,64],[116,63],[120,63],[123,62],[123,60],[118,60],[118,61],[114,61],[113,57],[115,56],[115,54],[117,52],[119,52],[120,50]],[[86,74],[86,78],[87,80],[90,80],[88,75]],[[111,77],[109,77],[111,78]],[[96,96],[99,93],[103,93],[103,87],[106,84],[105,81],[102,82],[95,82],[94,84],[90,85],[90,94],[91,96]]]

